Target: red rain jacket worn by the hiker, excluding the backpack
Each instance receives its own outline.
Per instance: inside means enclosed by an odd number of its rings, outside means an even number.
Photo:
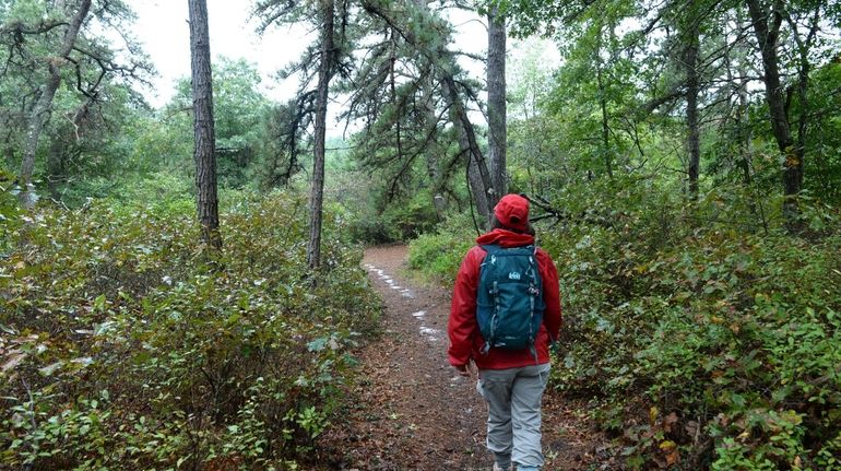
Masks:
[[[498,228],[478,237],[476,244],[520,247],[534,244],[534,237]],[[450,364],[453,366],[466,365],[473,358],[481,369],[506,369],[534,365],[534,355],[529,349],[490,349],[487,353],[481,353],[485,340],[482,338],[476,322],[476,291],[478,290],[479,267],[485,260],[486,252],[478,245],[471,248],[464,256],[455,278],[450,320],[447,325],[447,333],[450,337],[448,351]],[[543,326],[541,326],[535,339],[537,363],[543,364],[549,362],[549,338],[558,338],[561,317],[558,271],[549,255],[540,248],[537,249],[537,270],[543,282],[543,301],[546,303]]]

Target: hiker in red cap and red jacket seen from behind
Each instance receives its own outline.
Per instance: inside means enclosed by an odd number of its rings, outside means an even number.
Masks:
[[[461,376],[473,376],[471,362],[478,369],[476,389],[488,404],[494,471],[514,466],[540,470],[541,401],[549,377],[549,342],[557,340],[561,322],[558,272],[548,254],[534,246],[529,200],[521,196],[499,200],[491,231],[476,243],[455,279],[447,326],[449,361]],[[530,270],[535,266],[536,276]],[[491,282],[499,269],[510,273]],[[520,327],[509,329],[508,314],[522,317]],[[513,333],[499,338],[506,329]]]

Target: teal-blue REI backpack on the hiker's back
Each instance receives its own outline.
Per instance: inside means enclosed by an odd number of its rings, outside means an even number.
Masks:
[[[485,339],[483,352],[491,348],[530,349],[543,323],[546,304],[533,245],[501,248],[483,245],[487,251],[479,270],[476,320]]]

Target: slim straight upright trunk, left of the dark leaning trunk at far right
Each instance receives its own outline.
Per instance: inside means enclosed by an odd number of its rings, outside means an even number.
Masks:
[[[689,1],[691,7],[692,0]],[[698,119],[698,94],[700,85],[698,81],[698,50],[700,45],[700,32],[698,17],[689,17],[689,27],[687,28],[687,43],[684,56],[686,64],[686,148],[689,153],[689,197],[698,199],[698,175],[700,174],[701,144],[700,129]]]

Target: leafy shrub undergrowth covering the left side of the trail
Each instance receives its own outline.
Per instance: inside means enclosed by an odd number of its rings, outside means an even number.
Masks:
[[[296,469],[329,426],[380,311],[360,251],[327,217],[313,274],[305,202],[240,195],[211,268],[193,212],[100,201],[9,234],[3,468]]]

